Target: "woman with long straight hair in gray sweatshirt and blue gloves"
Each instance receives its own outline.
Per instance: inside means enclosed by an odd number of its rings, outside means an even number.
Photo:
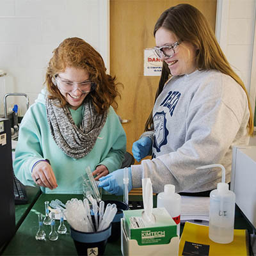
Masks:
[[[141,179],[149,177],[156,193],[174,184],[177,192],[209,195],[221,171],[196,168],[223,164],[230,182],[232,145],[248,144],[253,132],[248,93],[194,6],[164,11],[154,36],[163,69],[145,132],[132,146],[137,161],[149,155],[152,160],[131,166],[129,188],[140,188]],[[115,172],[103,177],[100,186],[122,193],[121,186],[111,186],[119,184],[115,177]]]

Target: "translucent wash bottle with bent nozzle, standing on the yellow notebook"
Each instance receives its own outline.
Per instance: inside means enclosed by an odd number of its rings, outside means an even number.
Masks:
[[[209,164],[199,168],[220,167],[222,180],[210,193],[209,238],[215,243],[227,244],[234,239],[236,195],[225,183],[225,168],[221,164]]]

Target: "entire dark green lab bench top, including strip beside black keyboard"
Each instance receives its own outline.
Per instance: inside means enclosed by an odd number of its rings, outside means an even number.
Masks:
[[[26,205],[16,205],[16,224],[20,225],[15,236],[13,236],[10,243],[3,250],[2,255],[77,255],[76,247],[72,237],[70,237],[70,227],[65,221],[67,227],[67,233],[64,235],[58,235],[57,241],[50,241],[48,235],[51,232],[51,226],[45,226],[44,230],[47,235],[45,241],[37,241],[35,239],[36,232],[38,230],[38,212],[45,214],[45,201],[51,202],[51,200],[59,199],[64,204],[71,198],[83,199],[83,195],[60,195],[60,194],[40,194],[40,191],[36,193],[35,188],[27,189],[29,195],[29,202]],[[38,197],[39,195],[39,197]],[[102,195],[103,200],[123,200],[123,196],[115,195]],[[36,202],[35,202],[36,200]],[[141,202],[142,196],[131,195],[129,200],[133,202]],[[35,204],[33,204],[35,202]],[[29,205],[29,206],[28,206]],[[32,207],[30,207],[32,205]],[[30,208],[29,208],[30,207]],[[154,207],[156,207],[156,196],[154,196]],[[28,212],[26,218],[24,214]],[[59,220],[56,220],[56,229],[60,224]],[[182,232],[184,225],[180,225],[180,232]],[[248,229],[250,225],[244,219],[243,215],[236,207],[235,215],[235,228]],[[107,243],[104,255],[122,255],[121,252],[121,239],[112,243]]]

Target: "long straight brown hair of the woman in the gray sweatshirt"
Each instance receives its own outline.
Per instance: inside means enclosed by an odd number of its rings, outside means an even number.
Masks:
[[[253,119],[250,100],[243,81],[230,67],[227,58],[221,51],[216,37],[211,29],[209,22],[204,15],[190,4],[178,4],[165,10],[156,22],[154,35],[159,28],[165,28],[174,33],[180,40],[190,42],[195,45],[196,68],[198,70],[219,70],[221,73],[232,77],[243,88],[248,99],[250,118],[248,122],[248,134],[253,134]],[[162,92],[164,84],[170,77],[168,65],[163,62],[161,78],[156,92],[156,98]],[[152,112],[145,124],[145,131],[153,128]]]

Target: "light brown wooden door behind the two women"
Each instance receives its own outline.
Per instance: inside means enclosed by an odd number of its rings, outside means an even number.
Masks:
[[[154,25],[164,10],[179,3],[198,8],[215,30],[216,0],[110,0],[110,74],[124,84],[118,115],[125,120],[127,151],[144,131],[159,77],[143,76],[144,49],[154,47]]]

